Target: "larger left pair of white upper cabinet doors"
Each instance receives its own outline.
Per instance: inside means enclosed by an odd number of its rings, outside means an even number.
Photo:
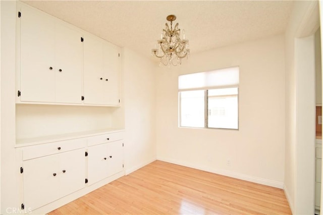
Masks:
[[[28,7],[19,20],[20,100],[81,103],[82,34]]]

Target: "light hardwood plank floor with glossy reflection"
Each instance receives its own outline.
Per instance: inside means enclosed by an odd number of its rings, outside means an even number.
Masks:
[[[291,214],[291,210],[281,189],[156,160],[49,214]]]

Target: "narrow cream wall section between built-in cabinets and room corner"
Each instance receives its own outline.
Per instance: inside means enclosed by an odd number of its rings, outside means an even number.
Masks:
[[[123,50],[125,168],[129,174],[156,159],[155,66],[136,52]]]

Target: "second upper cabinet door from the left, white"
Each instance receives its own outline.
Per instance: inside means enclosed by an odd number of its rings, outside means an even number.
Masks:
[[[81,103],[83,73],[82,34],[65,25],[55,30],[56,102]]]

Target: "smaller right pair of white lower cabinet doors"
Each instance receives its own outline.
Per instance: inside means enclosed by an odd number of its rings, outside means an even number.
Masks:
[[[88,183],[93,184],[123,171],[122,140],[88,147]]]

